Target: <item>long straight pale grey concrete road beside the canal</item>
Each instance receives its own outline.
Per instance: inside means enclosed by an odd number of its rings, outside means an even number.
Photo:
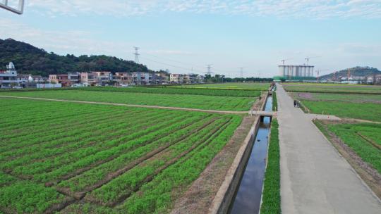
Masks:
[[[277,85],[282,213],[381,213],[381,201]]]

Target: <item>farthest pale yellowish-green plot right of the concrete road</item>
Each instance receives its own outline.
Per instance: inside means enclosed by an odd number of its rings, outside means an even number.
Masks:
[[[381,94],[381,86],[360,84],[285,83],[287,92],[325,92],[337,94]]]

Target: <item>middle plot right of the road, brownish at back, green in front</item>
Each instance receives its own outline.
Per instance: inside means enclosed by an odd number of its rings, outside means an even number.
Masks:
[[[381,95],[293,93],[311,113],[381,121]]]

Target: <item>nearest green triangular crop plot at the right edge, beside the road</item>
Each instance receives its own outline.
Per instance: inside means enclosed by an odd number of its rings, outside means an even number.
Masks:
[[[329,136],[332,132],[358,154],[365,162],[381,173],[381,125],[372,123],[322,124],[317,126]],[[327,127],[327,130],[325,130]]]

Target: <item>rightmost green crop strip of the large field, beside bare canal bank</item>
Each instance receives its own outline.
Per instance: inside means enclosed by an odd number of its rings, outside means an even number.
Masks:
[[[181,189],[186,189],[197,179],[210,160],[229,141],[241,118],[234,116],[231,123],[212,142],[200,150],[193,150],[189,158],[181,158],[157,175],[151,182],[143,184],[138,192],[133,193],[124,203],[116,208],[121,213],[164,213],[173,206]]]

